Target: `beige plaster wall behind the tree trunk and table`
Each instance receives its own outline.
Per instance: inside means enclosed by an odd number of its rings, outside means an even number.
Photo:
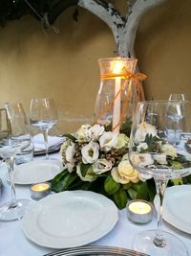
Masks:
[[[124,7],[124,1],[117,1]],[[0,29],[0,104],[22,102],[29,112],[32,97],[53,97],[62,132],[93,117],[99,85],[97,58],[114,56],[109,28],[92,13],[74,8],[55,22],[58,35],[42,31],[32,16]],[[171,92],[191,98],[191,2],[168,0],[148,12],[138,27],[136,53],[147,98],[167,99]],[[84,119],[84,121],[83,121]]]

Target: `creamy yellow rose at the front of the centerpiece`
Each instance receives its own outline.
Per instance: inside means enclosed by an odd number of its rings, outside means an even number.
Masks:
[[[133,168],[128,160],[121,161],[117,168],[113,168],[111,175],[120,184],[127,184],[130,181],[138,183],[139,181],[138,171]]]

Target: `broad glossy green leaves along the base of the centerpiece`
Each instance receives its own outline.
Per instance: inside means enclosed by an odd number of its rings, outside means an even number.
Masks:
[[[84,165],[85,166],[85,165]],[[82,181],[76,172],[69,173],[68,170],[62,171],[56,175],[52,181],[52,189],[54,192],[66,190],[89,190],[102,194],[114,200],[118,209],[123,209],[129,199],[145,199],[153,201],[156,190],[153,179],[145,182],[139,181],[134,184],[117,183],[109,174],[97,175],[96,180]]]

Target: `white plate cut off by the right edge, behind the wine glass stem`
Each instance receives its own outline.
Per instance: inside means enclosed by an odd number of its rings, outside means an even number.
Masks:
[[[165,221],[191,234],[191,185],[167,188],[162,209]]]

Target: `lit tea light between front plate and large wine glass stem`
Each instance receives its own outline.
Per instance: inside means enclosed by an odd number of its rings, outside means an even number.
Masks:
[[[130,221],[147,223],[153,217],[153,205],[145,200],[132,200],[127,203],[127,216]]]

